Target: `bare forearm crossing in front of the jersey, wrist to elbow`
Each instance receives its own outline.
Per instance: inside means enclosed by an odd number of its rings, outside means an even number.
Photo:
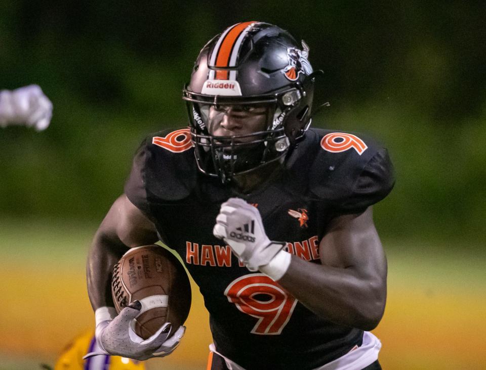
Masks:
[[[360,276],[352,267],[318,265],[292,256],[278,284],[312,312],[339,325],[372,330],[385,309],[383,278]]]

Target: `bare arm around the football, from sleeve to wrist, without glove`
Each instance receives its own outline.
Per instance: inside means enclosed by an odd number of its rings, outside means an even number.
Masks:
[[[127,249],[157,241],[153,223],[126,195],[121,195],[98,228],[88,255],[88,295],[95,311],[100,307],[114,306],[111,273]]]

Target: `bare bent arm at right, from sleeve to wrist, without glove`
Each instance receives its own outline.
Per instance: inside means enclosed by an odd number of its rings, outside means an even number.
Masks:
[[[371,207],[334,219],[319,253],[321,265],[292,256],[278,284],[330,321],[374,329],[385,309],[387,264]]]

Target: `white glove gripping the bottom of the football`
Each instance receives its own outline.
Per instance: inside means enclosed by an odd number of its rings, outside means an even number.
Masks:
[[[171,335],[171,323],[166,322],[148,339],[140,338],[134,331],[134,319],[140,313],[138,301],[125,307],[116,315],[113,307],[101,307],[96,310],[95,337],[99,351],[86,354],[83,359],[96,355],[115,355],[146,360],[152,357],[164,357],[172,353],[184,336],[184,326]]]

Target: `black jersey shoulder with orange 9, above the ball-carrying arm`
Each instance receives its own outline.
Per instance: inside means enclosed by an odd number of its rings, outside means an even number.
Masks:
[[[125,194],[138,208],[148,212],[149,203],[189,196],[196,171],[189,128],[156,132],[137,150]]]

